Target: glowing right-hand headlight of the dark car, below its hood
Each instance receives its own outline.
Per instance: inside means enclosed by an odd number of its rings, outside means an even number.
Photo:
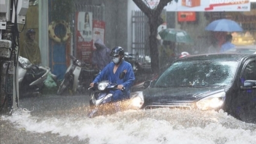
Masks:
[[[217,109],[220,108],[224,101],[225,101],[225,92],[219,92],[210,95],[209,97],[206,97],[200,101],[198,101],[197,107],[200,110],[210,110],[210,109]]]

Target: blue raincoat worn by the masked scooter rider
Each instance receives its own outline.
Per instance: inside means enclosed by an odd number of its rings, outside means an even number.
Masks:
[[[123,85],[123,87],[125,87],[125,90],[123,92],[121,90],[110,91],[113,94],[113,101],[116,102],[124,99],[129,99],[130,89],[135,80],[132,65],[126,61],[122,61],[121,64],[118,66],[115,74],[113,72],[114,66],[114,62],[111,62],[108,65],[106,65],[99,73],[99,75],[94,79],[93,83],[98,83],[103,80],[107,80],[111,83]],[[125,73],[125,76],[123,79],[120,80],[119,75],[122,72]]]

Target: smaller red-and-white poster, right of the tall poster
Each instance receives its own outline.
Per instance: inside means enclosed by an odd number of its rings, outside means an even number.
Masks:
[[[93,43],[96,39],[101,39],[104,42],[105,36],[105,22],[100,20],[93,20]],[[96,47],[93,45],[93,50],[96,50]]]

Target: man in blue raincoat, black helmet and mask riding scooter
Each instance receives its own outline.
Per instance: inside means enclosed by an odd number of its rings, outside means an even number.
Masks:
[[[102,71],[90,84],[90,87],[92,87],[94,83],[108,80],[111,83],[118,84],[117,88],[119,90],[110,91],[113,94],[114,102],[130,99],[130,89],[135,80],[132,65],[129,62],[123,60],[124,51],[120,46],[114,47],[110,56],[112,57],[113,62],[109,63],[102,69]],[[125,76],[123,79],[119,79],[119,75],[122,72],[125,73]],[[121,89],[123,87],[125,90],[122,91]]]

